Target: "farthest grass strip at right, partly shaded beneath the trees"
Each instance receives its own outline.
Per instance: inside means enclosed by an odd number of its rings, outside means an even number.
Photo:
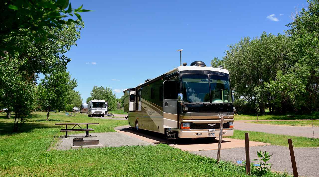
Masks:
[[[256,115],[238,115],[234,116],[234,120],[256,120],[257,119],[257,114]],[[319,119],[318,115],[294,115],[292,118],[288,118],[287,115],[264,115],[258,116],[258,120],[301,120],[301,119]]]

